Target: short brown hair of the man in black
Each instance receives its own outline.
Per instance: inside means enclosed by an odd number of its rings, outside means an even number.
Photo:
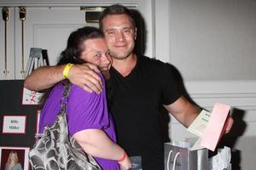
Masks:
[[[105,8],[100,16],[99,19],[99,26],[100,26],[100,30],[103,31],[103,23],[102,20],[108,15],[108,14],[127,14],[131,20],[131,24],[132,26],[135,28],[136,24],[135,24],[135,20],[133,18],[133,14],[131,13],[131,11],[119,4],[114,4],[109,6],[108,8]]]

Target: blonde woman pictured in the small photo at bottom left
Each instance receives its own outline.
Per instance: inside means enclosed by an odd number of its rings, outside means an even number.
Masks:
[[[22,170],[22,167],[19,163],[18,153],[15,150],[9,152],[5,170]]]

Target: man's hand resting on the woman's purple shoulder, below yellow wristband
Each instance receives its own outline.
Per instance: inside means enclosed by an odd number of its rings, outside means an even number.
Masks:
[[[97,74],[99,72],[96,65],[89,63],[73,65],[68,72],[67,78],[85,91],[99,94],[102,92],[102,79]]]

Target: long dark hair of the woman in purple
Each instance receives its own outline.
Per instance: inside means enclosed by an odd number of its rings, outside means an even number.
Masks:
[[[103,38],[104,34],[96,27],[84,26],[76,31],[73,31],[67,39],[67,47],[61,52],[61,56],[57,62],[57,65],[66,65],[67,63],[72,64],[83,64],[84,61],[80,59],[84,49],[84,41],[94,38]],[[86,48],[86,47],[85,47]],[[52,87],[54,88],[54,87]],[[48,98],[52,88],[45,90],[40,103],[44,106],[45,99]]]

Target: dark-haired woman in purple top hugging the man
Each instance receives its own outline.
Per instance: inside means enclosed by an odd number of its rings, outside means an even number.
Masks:
[[[73,31],[68,37],[67,48],[61,52],[57,65],[67,64],[63,71],[64,77],[67,77],[69,63],[84,62],[98,65],[104,70],[111,64],[104,36],[97,28],[85,26]],[[103,79],[101,73],[100,77]],[[55,122],[61,109],[63,84],[63,82],[56,84],[44,102],[39,133],[43,133],[44,126]],[[105,88],[101,94],[96,94],[85,92],[72,84],[67,102],[67,122],[70,135],[77,140],[86,153],[95,157],[102,169],[118,170],[119,167],[121,169],[131,167],[130,158],[126,156],[125,150],[115,144],[113,119],[108,114]]]

